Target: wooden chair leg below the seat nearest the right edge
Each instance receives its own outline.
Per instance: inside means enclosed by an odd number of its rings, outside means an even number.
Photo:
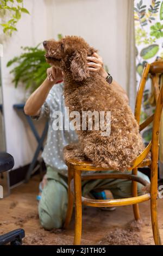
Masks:
[[[153,229],[153,238],[155,245],[161,245],[161,238],[158,224],[157,211],[157,197],[158,197],[158,169],[151,172],[151,221]]]

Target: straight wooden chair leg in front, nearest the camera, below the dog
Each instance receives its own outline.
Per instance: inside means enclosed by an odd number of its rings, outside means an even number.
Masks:
[[[81,172],[74,170],[75,234],[74,245],[80,245],[82,236],[82,181]]]

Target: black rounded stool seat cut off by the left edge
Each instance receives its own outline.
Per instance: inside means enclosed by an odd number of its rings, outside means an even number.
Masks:
[[[6,172],[7,170],[12,169],[14,167],[14,157],[8,153],[1,152],[0,153],[0,173]]]

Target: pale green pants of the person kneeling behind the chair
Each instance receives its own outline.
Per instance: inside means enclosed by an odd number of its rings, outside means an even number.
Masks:
[[[96,172],[97,173],[97,172]],[[116,173],[108,171],[105,173]],[[129,172],[126,172],[129,174]],[[138,175],[149,181],[148,176],[138,172]],[[67,211],[67,178],[59,174],[52,167],[47,167],[47,185],[43,188],[39,203],[39,217],[45,229],[61,228],[64,224]],[[98,179],[82,182],[83,196],[97,188],[110,190],[114,198],[131,197],[131,181],[122,179]],[[142,185],[138,184],[138,193],[142,194]]]

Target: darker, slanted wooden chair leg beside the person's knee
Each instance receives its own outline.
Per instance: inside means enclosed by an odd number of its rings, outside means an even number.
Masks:
[[[67,205],[67,214],[66,214],[66,219],[65,219],[65,223],[64,223],[64,228],[68,228],[68,225],[71,222],[71,218],[72,218],[72,212],[73,212],[73,194],[71,192],[71,180],[73,179],[73,169],[71,168],[71,166],[68,166],[68,205]]]

